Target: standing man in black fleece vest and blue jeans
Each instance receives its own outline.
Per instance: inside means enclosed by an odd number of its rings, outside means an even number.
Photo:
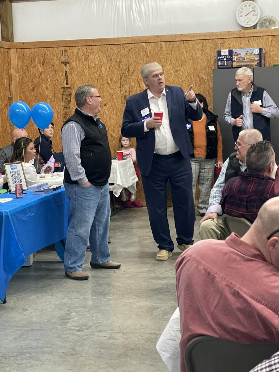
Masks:
[[[65,274],[86,280],[81,271],[89,240],[90,266],[119,269],[110,261],[108,247],[111,153],[105,125],[97,114],[102,102],[96,87],[82,85],[75,92],[77,108],[62,126],[65,157],[64,187],[70,199],[69,228],[65,246]]]

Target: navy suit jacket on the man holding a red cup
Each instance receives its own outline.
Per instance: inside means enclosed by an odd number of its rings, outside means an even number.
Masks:
[[[186,128],[186,117],[192,120],[200,120],[202,118],[202,108],[198,104],[198,109],[193,109],[185,99],[184,92],[180,87],[166,85],[165,89],[171,133],[183,157],[187,158],[189,154],[193,153],[193,147]],[[147,89],[129,97],[126,100],[121,129],[121,134],[124,137],[137,138],[137,164],[144,176],[148,176],[150,173],[155,149],[154,129],[152,128],[144,133],[141,110],[147,107],[151,116]]]

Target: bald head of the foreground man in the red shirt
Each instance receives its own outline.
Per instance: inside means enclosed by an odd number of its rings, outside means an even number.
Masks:
[[[279,270],[279,196],[262,205],[242,240],[256,247],[267,262]]]

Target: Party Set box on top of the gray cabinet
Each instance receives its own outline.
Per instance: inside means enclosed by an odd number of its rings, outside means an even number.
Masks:
[[[264,48],[217,50],[217,68],[264,67]]]

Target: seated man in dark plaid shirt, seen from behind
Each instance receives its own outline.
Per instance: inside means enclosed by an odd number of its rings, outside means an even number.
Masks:
[[[260,207],[274,196],[275,153],[269,141],[251,145],[246,154],[247,172],[226,183],[221,207],[225,214],[253,223]]]

